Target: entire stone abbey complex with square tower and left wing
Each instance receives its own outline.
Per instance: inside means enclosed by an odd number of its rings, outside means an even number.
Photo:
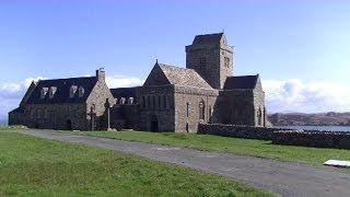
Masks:
[[[197,35],[186,68],[155,62],[142,86],[109,89],[94,77],[32,82],[9,125],[30,128],[196,132],[199,124],[266,126],[259,74],[233,76],[223,33]]]

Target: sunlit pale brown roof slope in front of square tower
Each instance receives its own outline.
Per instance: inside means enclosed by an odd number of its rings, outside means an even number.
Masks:
[[[171,84],[212,89],[194,69],[158,63]]]

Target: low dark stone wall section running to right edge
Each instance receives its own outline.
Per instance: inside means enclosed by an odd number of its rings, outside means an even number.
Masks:
[[[280,130],[273,132],[272,142],[277,144],[350,149],[350,132]]]

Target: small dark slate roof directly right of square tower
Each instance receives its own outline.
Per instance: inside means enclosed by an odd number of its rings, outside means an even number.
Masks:
[[[255,89],[259,76],[229,77],[223,85],[224,90],[232,89]]]

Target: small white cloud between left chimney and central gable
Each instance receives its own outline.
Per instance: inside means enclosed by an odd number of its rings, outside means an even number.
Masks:
[[[106,83],[109,89],[115,88],[127,88],[127,86],[138,86],[143,84],[143,80],[133,77],[126,76],[113,76],[106,77]]]

